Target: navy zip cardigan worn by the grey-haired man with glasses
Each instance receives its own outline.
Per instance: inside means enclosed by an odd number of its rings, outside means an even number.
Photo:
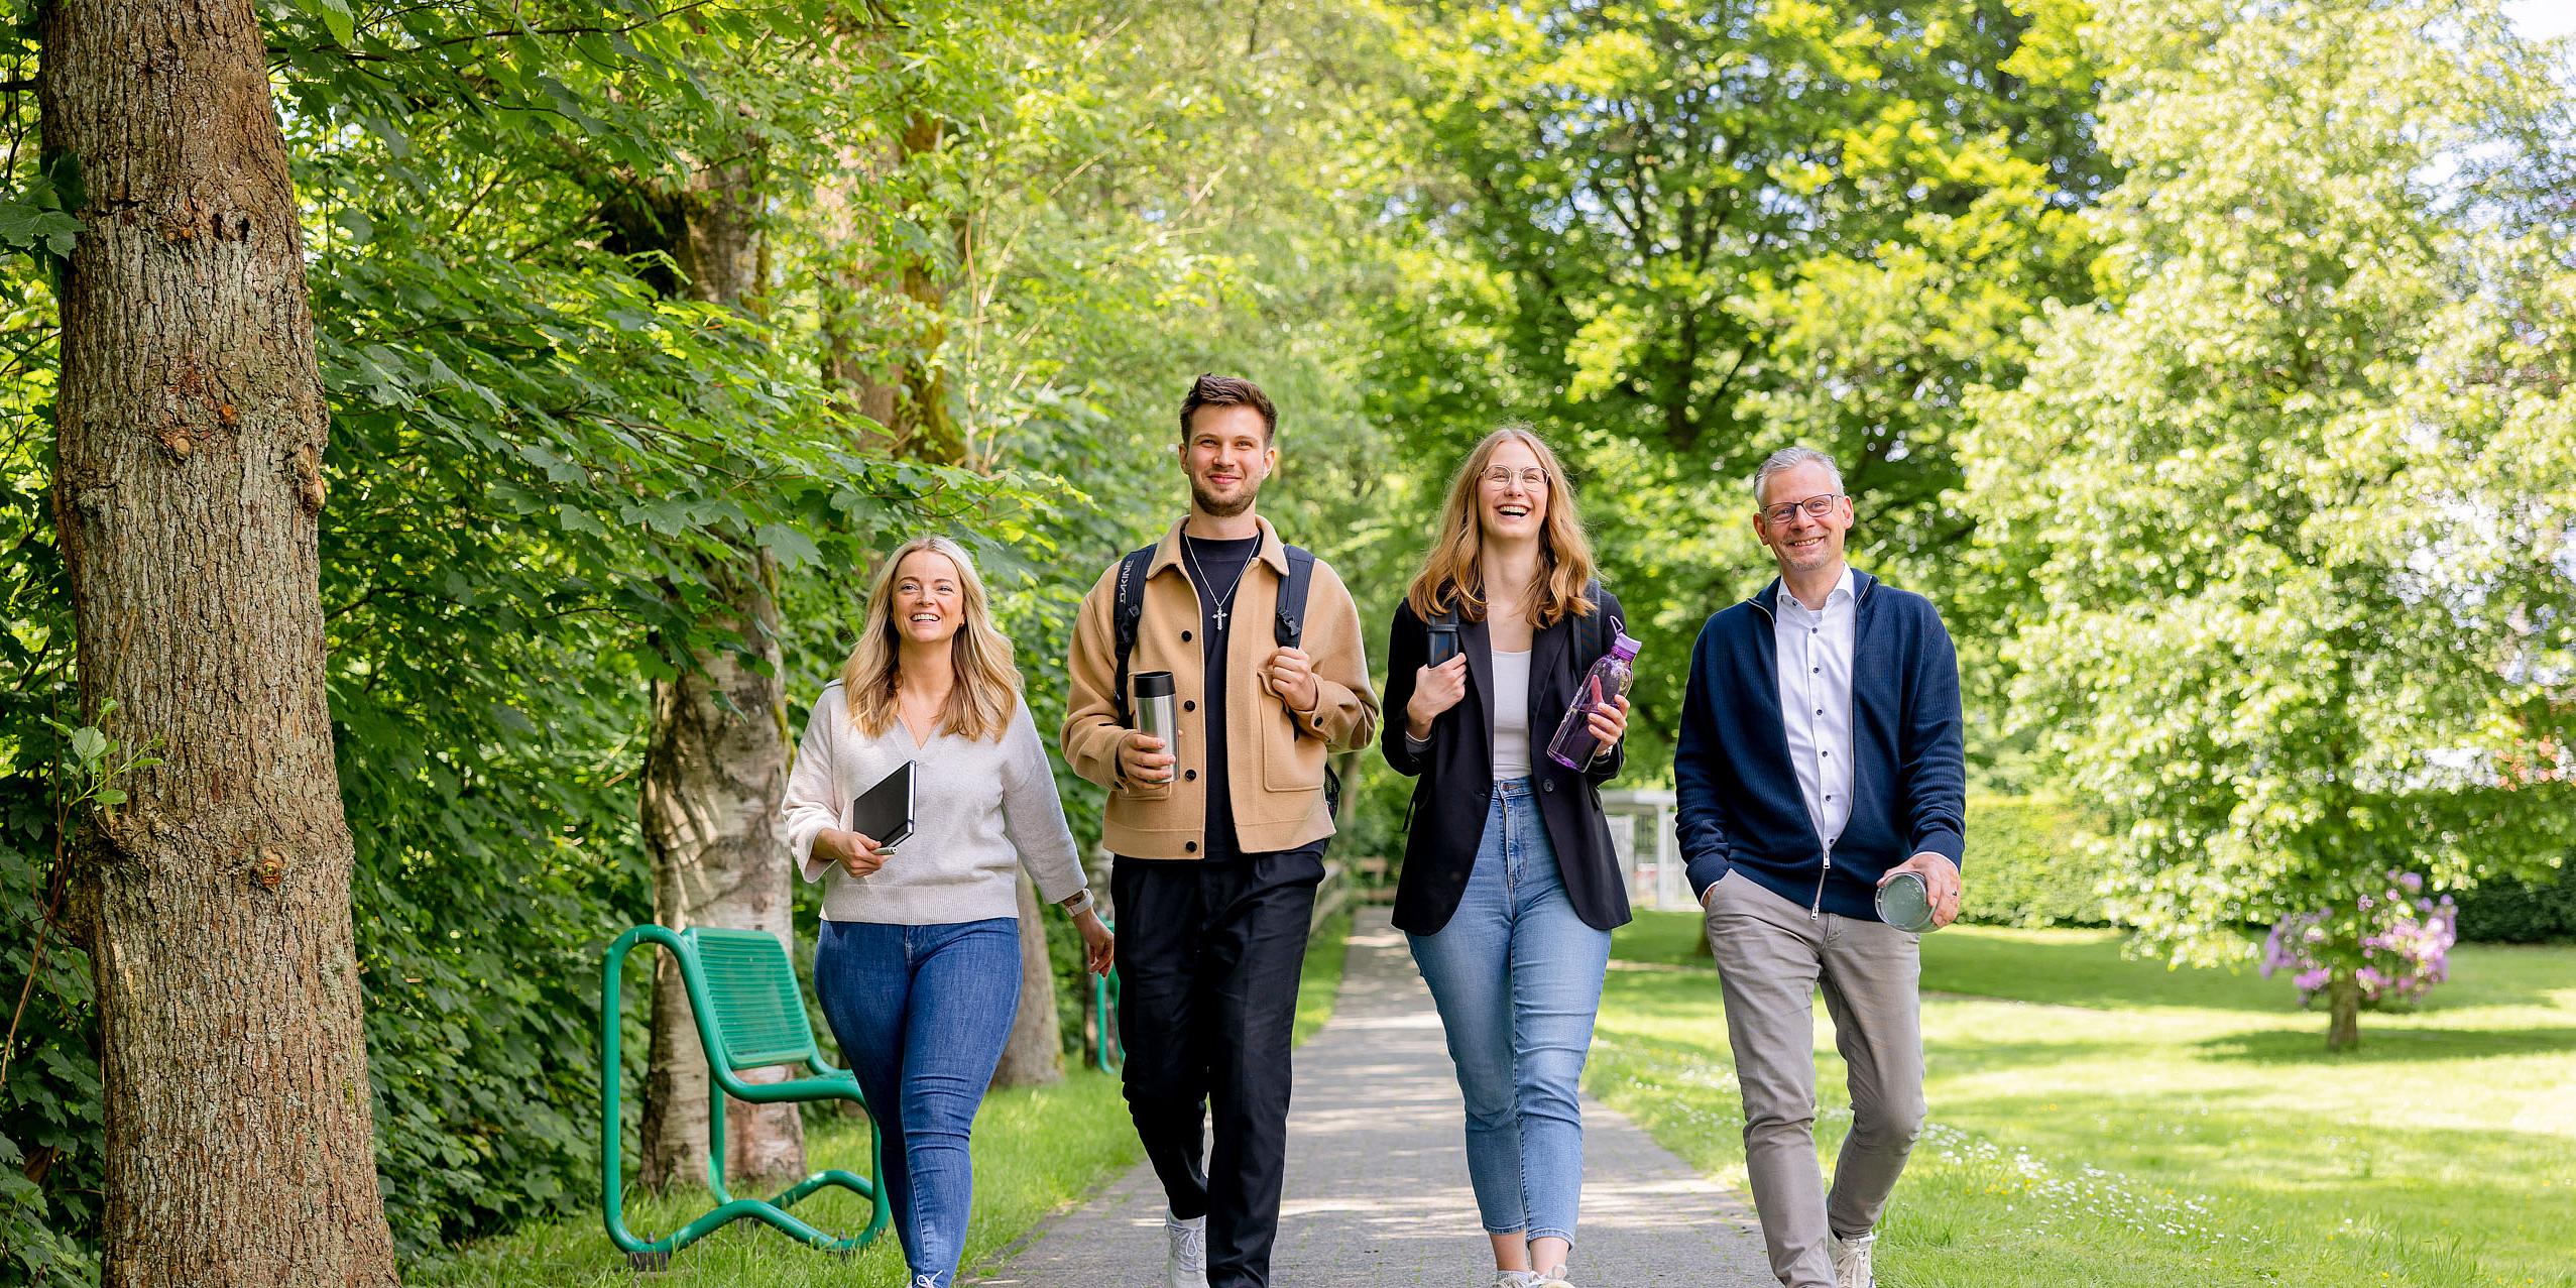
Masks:
[[[1968,765],[1958,654],[1932,600],[1852,572],[1852,822],[1824,853],[1780,721],[1780,580],[1708,618],[1672,778],[1692,894],[1728,871],[1806,909],[1878,920],[1878,878],[1917,853],[1960,860]]]

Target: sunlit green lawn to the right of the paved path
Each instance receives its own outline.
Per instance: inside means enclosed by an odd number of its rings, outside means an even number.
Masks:
[[[1744,1185],[1700,920],[1618,935],[1587,1082]],[[2576,948],[2463,945],[2329,1056],[2282,979],[2125,961],[2110,933],[1924,935],[1932,1121],[1883,1280],[2576,1288]],[[1816,1007],[1819,1149],[1850,1126]]]

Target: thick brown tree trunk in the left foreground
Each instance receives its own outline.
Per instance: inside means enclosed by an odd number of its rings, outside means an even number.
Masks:
[[[250,0],[57,0],[57,523],[80,703],[162,765],[75,837],[108,1288],[389,1285],[322,690],[330,417]]]

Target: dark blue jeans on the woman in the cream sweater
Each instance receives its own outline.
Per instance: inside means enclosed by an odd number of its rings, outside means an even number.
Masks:
[[[966,1133],[1020,1012],[1020,922],[822,922],[814,997],[886,1139],[878,1185],[914,1285],[966,1255]]]

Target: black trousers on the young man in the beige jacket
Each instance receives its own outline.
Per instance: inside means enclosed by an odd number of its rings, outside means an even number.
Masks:
[[[1110,868],[1128,1115],[1172,1216],[1208,1218],[1208,1288],[1270,1283],[1288,1043],[1319,881],[1324,842]]]

